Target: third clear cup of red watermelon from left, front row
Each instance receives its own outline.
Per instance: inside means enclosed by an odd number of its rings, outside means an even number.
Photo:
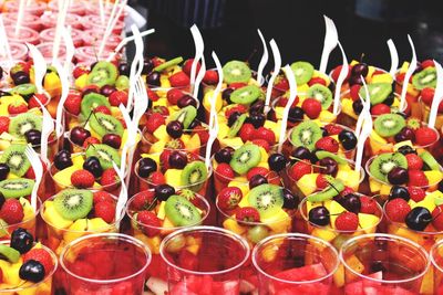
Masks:
[[[328,242],[301,233],[266,238],[253,251],[259,294],[330,294],[339,254]]]

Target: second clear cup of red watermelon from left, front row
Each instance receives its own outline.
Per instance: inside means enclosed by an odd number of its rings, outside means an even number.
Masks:
[[[250,250],[245,239],[213,226],[169,234],[161,244],[167,264],[167,294],[239,294],[240,271]],[[156,294],[163,294],[156,293]]]

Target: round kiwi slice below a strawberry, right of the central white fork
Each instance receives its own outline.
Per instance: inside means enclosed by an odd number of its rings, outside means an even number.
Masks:
[[[293,128],[290,138],[296,147],[306,147],[309,150],[316,148],[316,143],[323,136],[321,128],[311,120],[306,120]]]

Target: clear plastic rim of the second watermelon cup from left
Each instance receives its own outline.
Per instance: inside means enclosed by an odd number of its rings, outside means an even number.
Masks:
[[[185,234],[187,232],[207,232],[207,233],[216,233],[218,235],[224,235],[225,238],[228,238],[233,241],[238,242],[239,244],[243,245],[244,250],[245,250],[245,257],[237,263],[237,265],[234,265],[229,268],[223,270],[223,271],[218,271],[218,272],[196,272],[196,271],[190,271],[190,270],[186,270],[183,268],[178,265],[175,265],[173,262],[171,262],[166,256],[165,256],[165,252],[166,252],[166,243],[168,241],[171,241],[173,238],[181,235],[181,234]],[[230,273],[234,271],[237,271],[238,268],[241,268],[241,266],[245,265],[245,263],[248,261],[249,256],[250,256],[250,247],[248,242],[241,238],[240,235],[222,229],[222,228],[216,228],[216,226],[193,226],[193,228],[185,228],[178,231],[175,231],[171,234],[168,234],[165,239],[163,239],[162,243],[159,244],[159,255],[162,256],[163,261],[166,262],[166,264],[169,267],[173,267],[179,272],[186,273],[186,274],[193,274],[193,275],[220,275],[220,274],[226,274],[226,273]],[[240,270],[238,270],[240,271]]]

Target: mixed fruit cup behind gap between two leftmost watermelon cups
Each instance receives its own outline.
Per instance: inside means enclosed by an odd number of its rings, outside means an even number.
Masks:
[[[158,186],[130,199],[126,204],[126,214],[131,219],[128,233],[145,243],[153,255],[146,272],[152,292],[163,294],[163,289],[167,291],[166,264],[159,255],[163,239],[177,230],[206,223],[209,210],[203,196],[186,189],[175,192]],[[198,245],[189,245],[190,249],[198,250]]]

